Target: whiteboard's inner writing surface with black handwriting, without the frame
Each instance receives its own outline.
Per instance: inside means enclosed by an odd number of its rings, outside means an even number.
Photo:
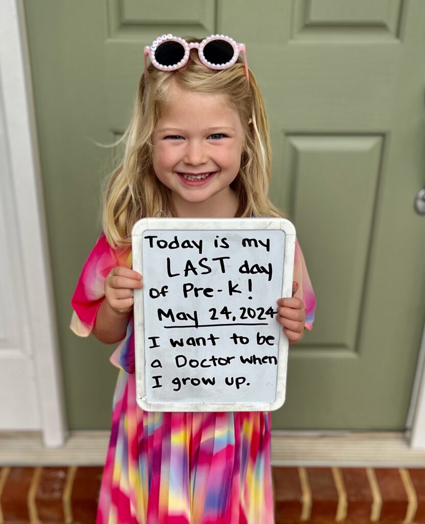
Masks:
[[[274,400],[285,243],[274,231],[187,229],[142,235],[146,288],[139,296],[152,400],[268,402],[269,392]]]

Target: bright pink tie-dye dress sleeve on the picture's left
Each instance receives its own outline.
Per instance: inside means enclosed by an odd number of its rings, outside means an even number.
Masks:
[[[105,298],[105,279],[113,267],[126,265],[126,252],[131,252],[131,248],[113,249],[104,233],[98,238],[84,263],[71,299],[74,312],[70,328],[76,335],[90,335],[96,321],[97,310]]]

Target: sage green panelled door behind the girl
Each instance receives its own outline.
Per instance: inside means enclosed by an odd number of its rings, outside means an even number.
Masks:
[[[68,329],[110,143],[156,36],[230,35],[269,112],[273,201],[318,307],[274,428],[405,428],[425,311],[425,2],[25,1],[70,428],[107,428],[115,346]],[[178,9],[176,8],[178,6]]]

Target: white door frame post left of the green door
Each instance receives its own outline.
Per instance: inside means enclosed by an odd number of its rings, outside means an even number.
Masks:
[[[57,447],[67,430],[23,0],[0,2],[0,87],[40,430],[44,445]]]

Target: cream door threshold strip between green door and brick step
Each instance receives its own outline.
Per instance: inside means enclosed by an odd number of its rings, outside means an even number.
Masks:
[[[44,447],[41,432],[0,433],[0,466],[103,466],[107,430],[71,431],[65,445]],[[425,467],[425,450],[403,432],[272,430],[273,466]]]

